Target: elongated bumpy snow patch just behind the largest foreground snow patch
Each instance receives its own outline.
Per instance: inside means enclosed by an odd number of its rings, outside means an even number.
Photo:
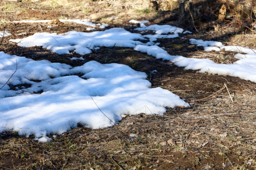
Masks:
[[[95,47],[135,47],[143,44],[139,41],[144,39],[140,34],[134,34],[123,28],[112,28],[105,31],[90,33],[70,31],[65,34],[56,33],[35,33],[23,39],[10,40],[17,42],[21,47],[42,46],[57,54],[70,54],[75,51],[84,55],[92,53]]]

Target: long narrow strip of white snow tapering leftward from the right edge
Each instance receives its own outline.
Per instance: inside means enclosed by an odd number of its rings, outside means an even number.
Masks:
[[[203,42],[197,41],[197,42]],[[204,45],[207,44],[220,45],[218,42],[204,42]],[[224,48],[224,47],[223,47]],[[209,72],[211,74],[219,75],[231,75],[239,77],[244,80],[250,80],[256,82],[256,58],[245,58],[234,62],[233,64],[218,64],[209,59],[195,59],[195,58],[186,58],[183,56],[171,56],[165,50],[158,46],[145,46],[137,45],[135,48],[137,51],[147,53],[156,57],[157,59],[170,60],[175,63],[175,65],[185,67],[185,69],[199,70],[198,72]],[[233,49],[228,47],[227,49]],[[248,48],[239,48],[243,49],[242,52],[252,52]]]

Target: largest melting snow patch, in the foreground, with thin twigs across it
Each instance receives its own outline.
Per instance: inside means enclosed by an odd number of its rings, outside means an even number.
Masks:
[[[0,90],[0,132],[34,134],[45,142],[49,141],[47,134],[61,134],[77,127],[77,123],[103,128],[113,125],[109,119],[115,123],[121,120],[121,114],[163,114],[165,107],[189,106],[168,90],[150,88],[145,73],[115,63],[91,61],[72,68],[0,52],[1,86],[15,71],[16,60],[18,69],[8,84],[27,83],[31,87],[9,90],[6,85]],[[74,75],[78,73],[84,75]]]

